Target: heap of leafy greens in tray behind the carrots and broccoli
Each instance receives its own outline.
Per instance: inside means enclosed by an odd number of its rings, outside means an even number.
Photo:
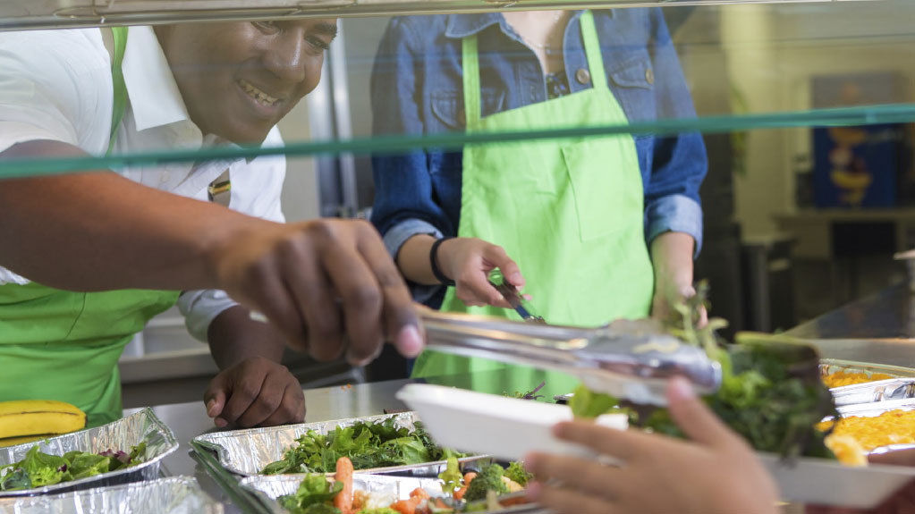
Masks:
[[[350,457],[355,469],[405,466],[465,456],[432,442],[422,423],[414,430],[397,426],[392,416],[382,422],[338,426],[328,434],[309,430],[296,439],[283,458],[264,466],[264,475],[332,473],[339,457]]]

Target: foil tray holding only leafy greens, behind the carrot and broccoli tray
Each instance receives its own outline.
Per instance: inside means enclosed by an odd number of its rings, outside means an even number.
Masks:
[[[398,426],[409,429],[414,428],[414,423],[419,421],[415,412],[401,412],[397,414],[382,414],[349,418],[318,423],[299,423],[273,426],[268,428],[249,428],[229,432],[214,432],[202,434],[194,438],[199,444],[216,452],[221,466],[232,473],[245,477],[257,475],[264,466],[280,460],[283,454],[296,444],[296,438],[309,430],[318,434],[327,434],[338,426],[350,426],[354,423],[375,423],[394,417]],[[488,458],[485,455],[474,455],[458,459],[461,463]],[[357,473],[374,474],[403,474],[415,477],[436,477],[445,469],[445,461],[429,462],[410,466],[386,466],[370,469],[357,469]]]

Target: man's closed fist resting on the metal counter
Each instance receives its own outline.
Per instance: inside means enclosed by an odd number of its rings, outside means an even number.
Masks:
[[[203,395],[207,415],[216,426],[244,428],[302,423],[305,395],[296,377],[282,364],[253,357],[224,369]]]

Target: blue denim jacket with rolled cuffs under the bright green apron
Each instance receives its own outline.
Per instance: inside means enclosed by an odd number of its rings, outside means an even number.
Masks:
[[[563,42],[571,94],[591,87],[587,74],[579,71],[587,70],[580,16],[571,17]],[[594,19],[610,90],[630,122],[695,116],[659,9],[595,11]],[[463,130],[461,39],[472,34],[479,38],[483,116],[546,100],[538,59],[501,14],[394,17],[371,74],[374,134]],[[685,232],[693,236],[698,252],[699,186],[706,169],[701,135],[640,135],[635,145],[645,194],[646,243],[665,231]],[[460,152],[437,150],[372,156],[371,220],[393,257],[416,234],[457,235],[461,158]],[[417,301],[440,305],[444,287],[411,285]]]

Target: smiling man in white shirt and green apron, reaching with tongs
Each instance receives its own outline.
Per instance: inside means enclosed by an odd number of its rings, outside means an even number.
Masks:
[[[0,34],[0,160],[282,145],[275,124],[317,86],[336,31]],[[204,393],[218,426],[303,419],[284,343],[354,364],[384,340],[415,355],[410,295],[379,236],[358,221],[285,224],[284,175],[284,158],[257,157],[0,180],[0,401],[119,417],[124,344],[176,302],[221,368]]]

